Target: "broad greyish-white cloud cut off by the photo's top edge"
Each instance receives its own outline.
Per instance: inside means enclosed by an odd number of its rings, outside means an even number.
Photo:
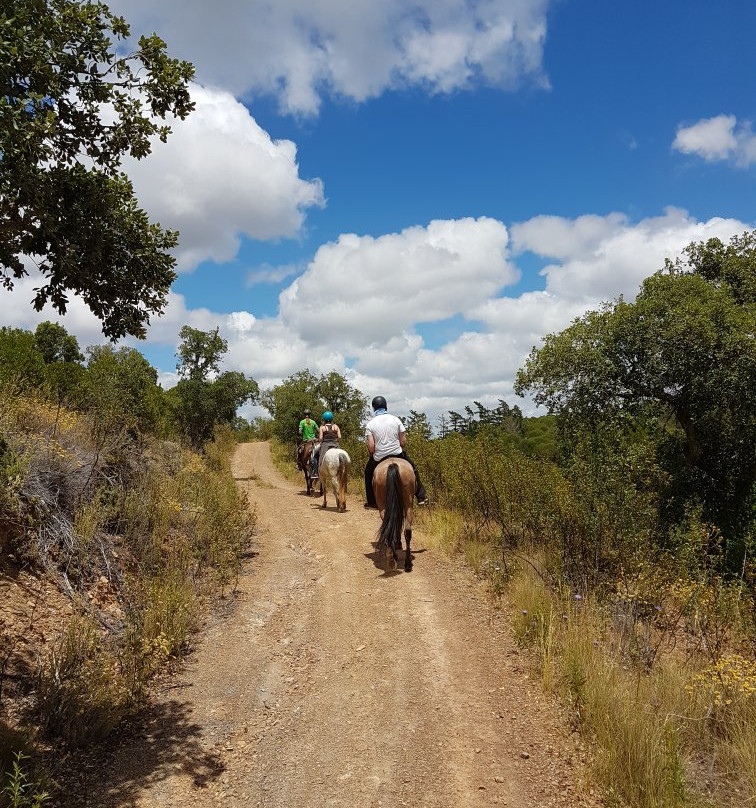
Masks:
[[[203,84],[317,113],[323,93],[364,101],[420,85],[546,86],[551,0],[111,0],[135,35],[156,30]]]

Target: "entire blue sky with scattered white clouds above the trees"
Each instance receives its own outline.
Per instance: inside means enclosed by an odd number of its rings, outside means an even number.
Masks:
[[[197,111],[127,166],[182,234],[137,344],[166,385],[189,323],[263,387],[310,367],[399,412],[516,403],[544,334],[756,226],[745,0],[111,7],[197,67]],[[33,327],[23,293],[0,304]],[[77,301],[61,322],[102,341]]]

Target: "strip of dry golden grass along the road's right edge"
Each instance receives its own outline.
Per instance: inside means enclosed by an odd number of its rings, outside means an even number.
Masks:
[[[548,564],[538,554],[503,575],[497,542],[473,535],[454,511],[433,508],[422,522],[429,543],[462,554],[504,594],[514,637],[532,651],[544,689],[595,742],[594,776],[607,805],[754,804],[756,662],[727,652],[748,631],[748,605],[733,603],[732,588],[677,579],[663,590],[657,578],[605,606],[546,586],[536,570]],[[716,649],[717,662],[706,648]]]

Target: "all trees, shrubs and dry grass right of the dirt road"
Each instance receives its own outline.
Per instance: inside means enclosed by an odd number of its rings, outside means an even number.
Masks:
[[[694,244],[533,351],[535,443],[485,408],[411,438],[428,535],[506,601],[609,805],[756,794],[755,333],[756,234]]]

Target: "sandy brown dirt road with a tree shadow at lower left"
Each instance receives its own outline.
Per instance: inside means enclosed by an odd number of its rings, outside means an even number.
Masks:
[[[202,633],[97,806],[593,806],[570,735],[505,615],[415,530],[386,575],[353,493],[339,514],[240,446],[258,535],[233,609]]]

